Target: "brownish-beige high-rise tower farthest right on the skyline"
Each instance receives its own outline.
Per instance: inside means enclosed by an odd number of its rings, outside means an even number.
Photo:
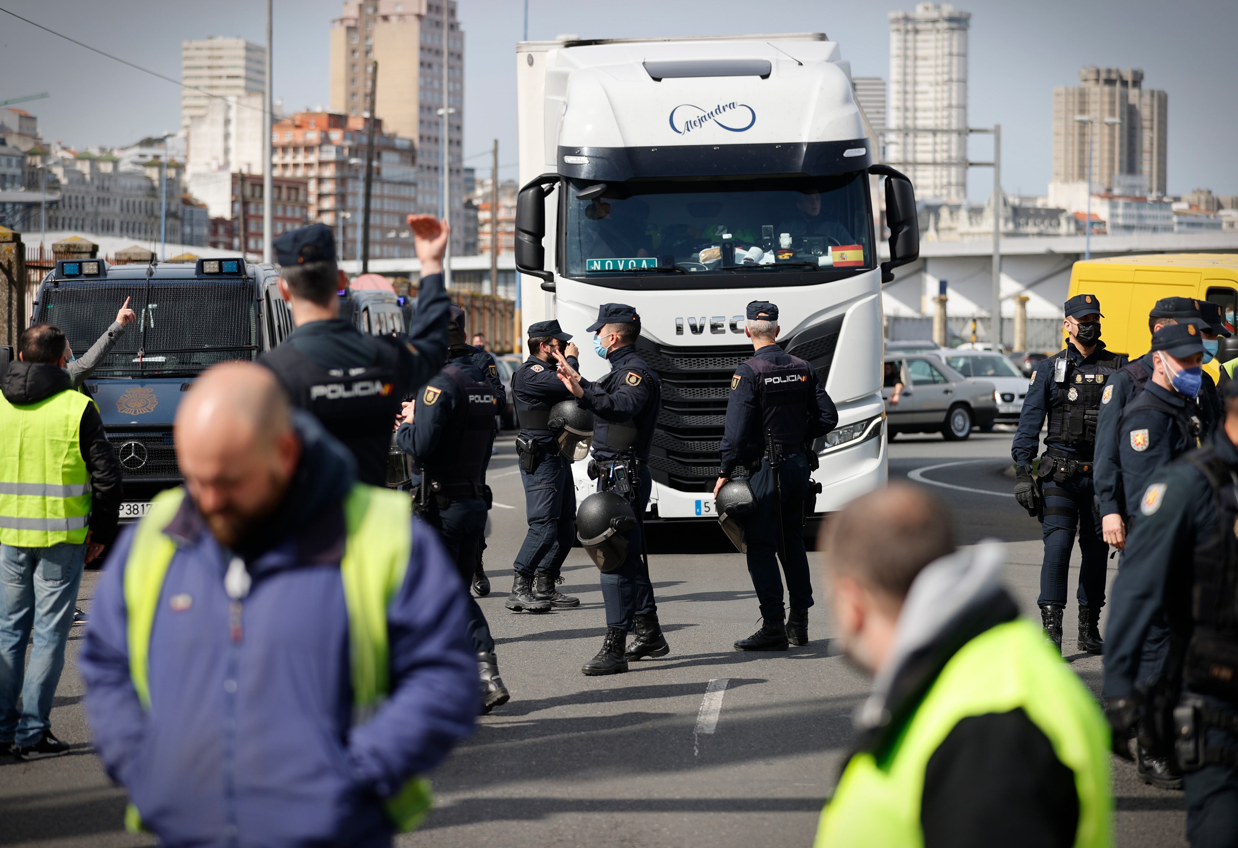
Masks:
[[[1093,191],[1164,194],[1165,92],[1145,89],[1135,68],[1081,68],[1080,83],[1054,89],[1054,182],[1087,180],[1091,134]]]

